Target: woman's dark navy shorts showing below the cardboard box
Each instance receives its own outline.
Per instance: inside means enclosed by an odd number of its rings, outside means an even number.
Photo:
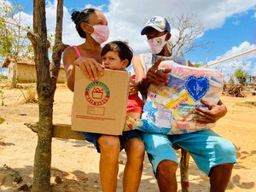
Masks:
[[[130,139],[132,138],[139,138],[139,139],[142,139],[141,135],[139,134],[140,131],[138,130],[131,130],[131,131],[124,131],[123,132],[123,135],[121,136],[118,136],[119,137],[119,140],[120,140],[120,144],[121,144],[121,148],[120,150],[122,150],[124,148],[124,143],[125,142],[128,142]],[[97,149],[97,152],[98,153],[101,153],[101,150],[99,148],[99,145],[98,145],[98,139],[103,135],[101,133],[91,133],[91,132],[81,132],[86,141],[90,142],[90,143],[93,143],[94,146],[96,147]]]

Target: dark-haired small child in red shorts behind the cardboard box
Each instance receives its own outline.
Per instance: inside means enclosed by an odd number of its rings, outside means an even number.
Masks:
[[[125,71],[131,65],[132,49],[122,41],[113,41],[102,48],[102,65],[105,68]],[[135,76],[131,77],[133,81]],[[134,82],[136,83],[136,82]],[[143,101],[138,94],[131,95],[127,102],[127,116],[124,131],[130,131],[141,118],[143,111]]]

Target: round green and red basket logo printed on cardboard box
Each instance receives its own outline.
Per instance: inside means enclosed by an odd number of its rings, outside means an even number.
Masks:
[[[100,106],[108,102],[110,91],[107,84],[97,81],[85,87],[84,96],[90,104]]]

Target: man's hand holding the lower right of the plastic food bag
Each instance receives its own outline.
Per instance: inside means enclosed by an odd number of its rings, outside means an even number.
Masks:
[[[194,113],[201,117],[194,118],[194,120],[201,124],[215,123],[218,119],[225,116],[227,108],[223,102],[219,101],[218,104],[212,104],[201,99],[201,103],[207,106],[209,110],[203,108],[195,108]]]

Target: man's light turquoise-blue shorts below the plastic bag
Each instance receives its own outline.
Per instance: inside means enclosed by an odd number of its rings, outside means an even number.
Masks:
[[[143,142],[148,153],[148,159],[153,166],[154,174],[162,160],[177,162],[177,154],[172,148],[172,144],[177,144],[189,151],[198,168],[208,176],[213,166],[236,163],[234,144],[218,136],[212,130],[183,135],[144,133]]]

